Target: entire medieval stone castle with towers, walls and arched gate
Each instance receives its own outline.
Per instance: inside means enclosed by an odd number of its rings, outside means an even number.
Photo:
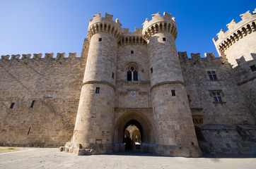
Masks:
[[[220,58],[178,52],[168,13],[135,32],[93,15],[81,57],[1,56],[0,145],[256,154],[256,15],[240,16],[214,38]]]

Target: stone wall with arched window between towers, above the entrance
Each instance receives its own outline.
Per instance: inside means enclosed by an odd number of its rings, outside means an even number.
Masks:
[[[131,54],[133,51],[133,54]],[[138,68],[138,81],[127,81],[127,68]],[[124,45],[117,49],[115,107],[145,108],[151,106],[149,62],[146,45]]]

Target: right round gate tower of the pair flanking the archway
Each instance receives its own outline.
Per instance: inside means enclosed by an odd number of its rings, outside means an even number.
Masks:
[[[152,15],[143,24],[147,42],[156,152],[168,156],[201,156],[175,46],[177,27],[171,14]]]

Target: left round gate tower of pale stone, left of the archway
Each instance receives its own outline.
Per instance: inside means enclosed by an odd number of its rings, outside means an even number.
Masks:
[[[112,151],[117,42],[121,24],[112,15],[93,15],[88,25],[90,48],[71,143],[66,151],[104,154]],[[68,148],[69,147],[69,148]]]

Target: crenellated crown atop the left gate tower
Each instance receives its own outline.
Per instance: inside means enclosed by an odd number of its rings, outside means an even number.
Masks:
[[[88,24],[88,40],[91,41],[91,37],[98,32],[105,32],[113,35],[117,42],[122,35],[122,24],[118,19],[112,20],[113,15],[105,13],[105,17],[101,17],[101,14],[93,15],[93,19],[90,19]]]

